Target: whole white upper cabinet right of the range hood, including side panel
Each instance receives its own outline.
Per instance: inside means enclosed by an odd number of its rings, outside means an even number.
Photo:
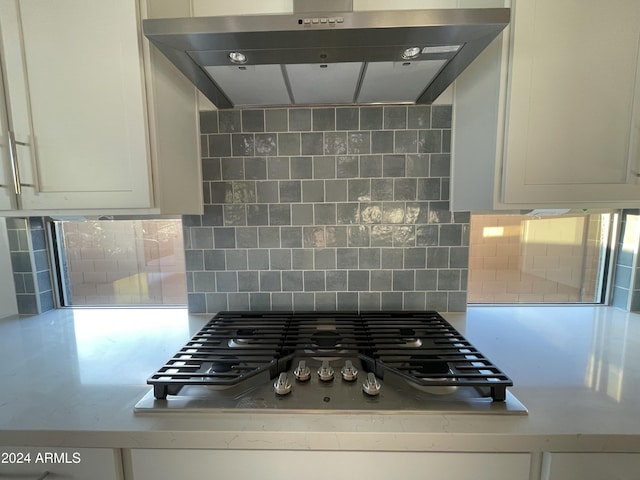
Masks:
[[[453,208],[639,205],[640,2],[516,0],[510,34],[456,86]]]

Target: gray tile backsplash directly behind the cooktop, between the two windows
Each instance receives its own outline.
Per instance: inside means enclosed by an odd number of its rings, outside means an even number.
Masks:
[[[201,128],[190,311],[466,309],[450,106],[202,112]]]

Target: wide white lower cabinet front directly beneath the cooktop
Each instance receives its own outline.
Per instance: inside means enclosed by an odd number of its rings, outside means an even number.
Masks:
[[[529,480],[530,455],[510,453],[133,450],[132,480]]]

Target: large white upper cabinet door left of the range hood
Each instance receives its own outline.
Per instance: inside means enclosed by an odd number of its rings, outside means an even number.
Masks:
[[[133,0],[0,0],[25,209],[150,206]]]

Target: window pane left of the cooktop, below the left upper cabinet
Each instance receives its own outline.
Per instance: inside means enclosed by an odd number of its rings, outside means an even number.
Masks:
[[[65,306],[185,305],[179,219],[55,221]]]

